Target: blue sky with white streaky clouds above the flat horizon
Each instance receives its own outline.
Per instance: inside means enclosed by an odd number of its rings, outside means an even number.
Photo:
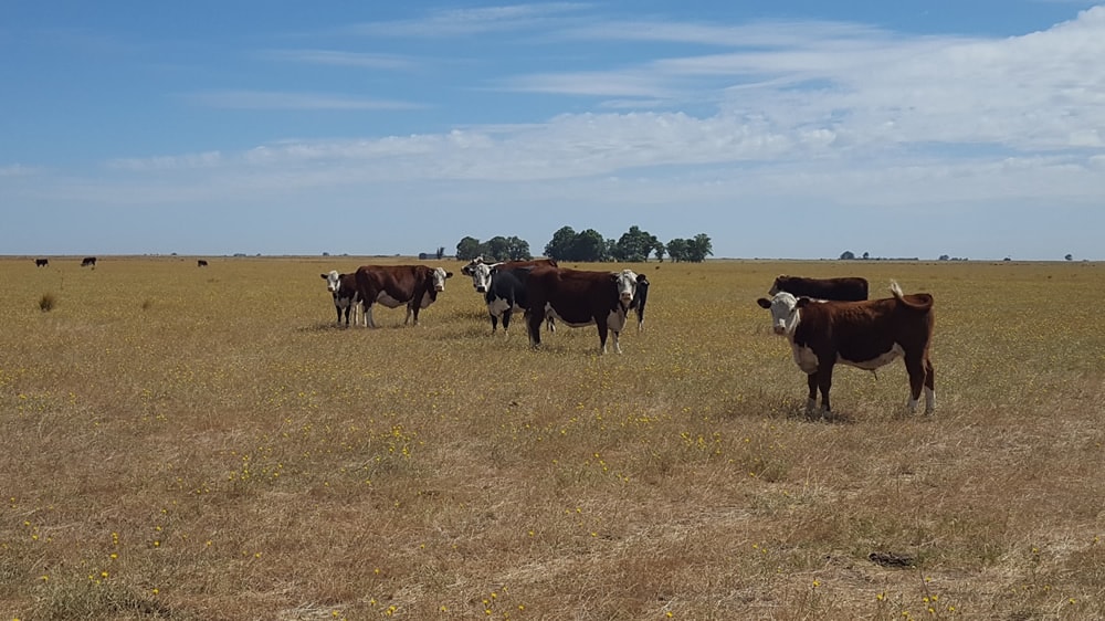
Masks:
[[[1105,260],[1105,4],[0,0],[0,254]]]

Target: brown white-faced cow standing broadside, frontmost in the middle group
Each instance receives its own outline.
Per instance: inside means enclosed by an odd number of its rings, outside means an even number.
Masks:
[[[552,316],[571,327],[598,327],[601,354],[607,352],[607,334],[613,331],[614,350],[621,354],[619,335],[629,309],[639,301],[636,291],[641,282],[646,283],[648,278],[632,270],[587,272],[535,267],[527,281],[530,344],[534,348],[540,347],[541,322]]]

